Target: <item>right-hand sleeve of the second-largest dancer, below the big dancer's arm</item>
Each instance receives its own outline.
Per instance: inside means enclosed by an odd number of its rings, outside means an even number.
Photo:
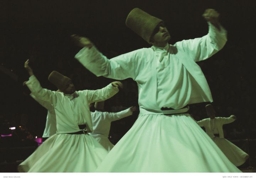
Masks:
[[[112,84],[107,85],[106,87],[98,90],[83,90],[81,93],[84,93],[90,103],[105,101],[108,98],[113,97],[119,89],[112,86]]]

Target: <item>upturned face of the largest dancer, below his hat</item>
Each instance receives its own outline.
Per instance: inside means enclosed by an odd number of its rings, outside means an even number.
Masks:
[[[150,44],[158,47],[164,47],[170,40],[171,36],[164,23],[160,23],[154,30]]]

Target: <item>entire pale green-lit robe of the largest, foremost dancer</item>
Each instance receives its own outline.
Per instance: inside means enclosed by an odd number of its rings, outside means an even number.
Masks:
[[[209,24],[202,38],[152,46],[107,59],[95,47],[75,56],[97,76],[132,78],[140,115],[96,172],[240,172],[189,114],[163,115],[162,107],[212,101],[201,68],[225,45],[226,32]]]

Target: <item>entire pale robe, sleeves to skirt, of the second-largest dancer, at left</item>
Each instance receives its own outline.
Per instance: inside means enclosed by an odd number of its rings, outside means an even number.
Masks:
[[[35,76],[26,85],[37,98],[52,103],[57,133],[49,137],[18,166],[19,172],[94,172],[106,157],[107,150],[88,134],[67,134],[81,131],[86,124],[91,131],[89,104],[106,100],[118,92],[111,84],[99,90],[76,91],[73,94],[43,89]]]

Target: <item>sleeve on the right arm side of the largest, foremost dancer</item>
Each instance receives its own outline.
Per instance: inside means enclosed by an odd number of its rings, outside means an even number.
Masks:
[[[218,30],[211,23],[208,25],[209,32],[202,38],[182,40],[176,43],[194,61],[202,61],[211,57],[226,44],[226,30],[222,26]]]

